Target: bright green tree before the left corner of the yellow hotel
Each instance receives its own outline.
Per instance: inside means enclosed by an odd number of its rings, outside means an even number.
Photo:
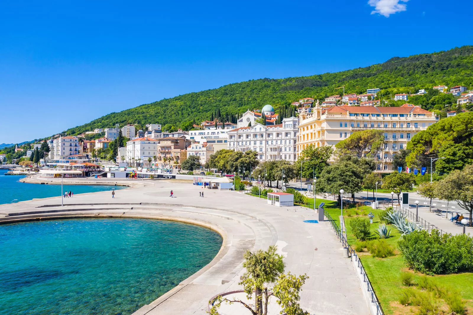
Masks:
[[[332,156],[332,153],[332,146],[317,148],[310,144],[300,152],[294,167],[298,166],[298,173],[300,173],[300,165],[302,163],[302,177],[312,178],[314,175],[316,177],[322,173],[325,166],[328,166],[327,161]]]

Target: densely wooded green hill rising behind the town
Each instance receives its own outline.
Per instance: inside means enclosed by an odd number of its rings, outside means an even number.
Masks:
[[[421,88],[436,85],[472,87],[472,55],[473,46],[463,46],[445,52],[394,57],[369,67],[335,73],[233,83],[111,113],[82,126],[71,128],[67,134],[113,127],[115,123],[121,126],[126,123],[137,123],[140,126],[146,123],[161,123],[168,124],[167,128],[174,125],[175,128],[188,129],[192,121],[201,122],[210,119],[212,113],[218,110],[230,120],[235,120],[238,114],[247,109],[259,109],[265,104],[271,104],[281,112],[282,106],[285,106],[286,113],[292,114],[294,109],[289,109],[290,103],[303,97],[323,101],[326,96],[341,93],[340,89],[334,88],[343,85],[345,93],[365,93],[367,88],[381,88],[381,94],[386,99],[396,93],[415,93]],[[427,101],[423,99],[416,101],[424,108],[431,109],[435,105],[428,102],[431,96],[432,94]],[[411,100],[409,101],[411,103]]]

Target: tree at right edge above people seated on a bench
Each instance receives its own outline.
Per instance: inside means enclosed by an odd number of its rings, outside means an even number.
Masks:
[[[455,170],[451,172],[438,185],[443,190],[449,191],[458,205],[468,211],[470,217],[469,226],[473,226],[473,165],[467,165],[461,171]]]

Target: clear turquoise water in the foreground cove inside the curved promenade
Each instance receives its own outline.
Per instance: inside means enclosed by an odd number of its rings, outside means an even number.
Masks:
[[[0,225],[1,315],[125,315],[218,253],[221,236],[151,219]]]

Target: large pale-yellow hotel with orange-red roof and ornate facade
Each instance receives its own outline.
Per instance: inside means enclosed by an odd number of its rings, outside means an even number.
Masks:
[[[406,148],[406,143],[419,131],[438,121],[434,113],[419,106],[401,107],[333,106],[315,108],[313,115],[300,117],[298,154],[310,144],[315,147],[335,146],[355,131],[378,129],[384,131],[385,143],[377,153],[377,171],[392,171],[393,155]],[[330,159],[334,161],[334,156]]]

